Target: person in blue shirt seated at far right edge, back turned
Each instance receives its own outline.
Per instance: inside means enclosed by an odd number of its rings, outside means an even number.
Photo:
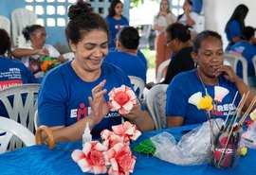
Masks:
[[[232,45],[229,52],[233,52],[238,55],[242,55],[247,60],[247,75],[248,84],[250,86],[256,86],[255,70],[253,67],[252,58],[256,56],[256,46],[253,45],[255,40],[255,30],[252,26],[246,26],[242,31],[241,41]],[[242,63],[237,65],[237,75],[243,78]]]

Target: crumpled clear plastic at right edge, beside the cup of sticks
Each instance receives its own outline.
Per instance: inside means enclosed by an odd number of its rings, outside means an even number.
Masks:
[[[244,147],[256,149],[256,122],[252,122],[247,131],[242,134],[242,144]]]

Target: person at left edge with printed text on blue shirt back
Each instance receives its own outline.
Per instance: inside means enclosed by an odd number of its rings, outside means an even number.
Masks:
[[[8,32],[0,28],[0,90],[27,83],[37,83],[31,71],[16,59],[10,59],[10,38]],[[0,115],[7,116],[5,107],[0,103]]]

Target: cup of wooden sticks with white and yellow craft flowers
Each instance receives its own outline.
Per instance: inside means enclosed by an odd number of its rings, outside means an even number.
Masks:
[[[249,92],[248,92],[249,93]],[[212,155],[210,159],[210,164],[216,167],[233,167],[236,166],[240,157],[240,139],[242,134],[242,125],[247,117],[247,114],[253,107],[256,97],[254,97],[253,101],[249,105],[247,112],[241,117],[239,123],[237,123],[237,118],[240,116],[242,108],[247,100],[247,95],[242,96],[242,99],[236,109],[235,114],[232,115],[231,119],[228,121],[229,114],[222,126],[219,127],[219,132],[214,135],[212,131],[212,122],[210,116],[210,111],[213,109],[214,103],[222,102],[223,98],[229,94],[229,90],[220,86],[214,87],[214,100],[208,94],[206,96],[202,96],[201,92],[193,94],[189,98],[189,103],[195,105],[199,110],[206,110],[208,112],[208,120],[210,122],[210,140],[211,140],[211,150]],[[233,103],[235,101],[234,96]]]

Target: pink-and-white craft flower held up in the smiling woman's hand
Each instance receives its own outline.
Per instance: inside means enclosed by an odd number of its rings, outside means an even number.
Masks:
[[[125,85],[113,88],[109,93],[108,104],[111,111],[119,111],[119,114],[128,114],[137,103],[137,96],[134,91]]]

